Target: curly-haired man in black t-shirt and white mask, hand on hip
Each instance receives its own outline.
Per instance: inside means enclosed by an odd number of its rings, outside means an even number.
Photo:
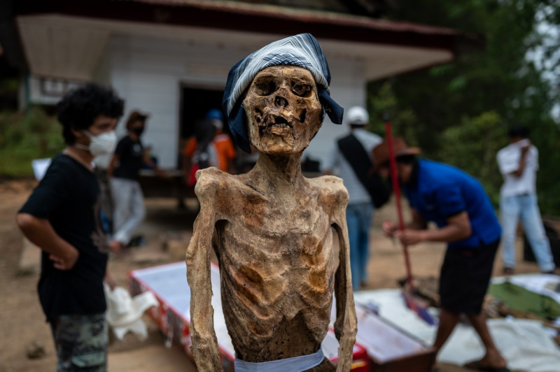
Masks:
[[[52,329],[57,371],[106,371],[103,280],[109,245],[92,161],[113,152],[124,101],[87,84],[58,103],[66,148],[55,156],[16,220],[42,250],[38,295]]]

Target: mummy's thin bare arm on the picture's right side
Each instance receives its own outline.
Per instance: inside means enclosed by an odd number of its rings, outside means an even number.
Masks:
[[[342,193],[340,193],[342,194]],[[341,195],[342,196],[342,195]],[[352,280],[350,271],[350,244],[348,227],[346,226],[345,207],[348,194],[344,192],[335,211],[333,226],[339,238],[339,266],[335,273],[335,297],[337,318],[335,321],[335,335],[339,341],[337,371],[350,371],[352,365],[352,350],[356,342],[356,308],[354,306]]]

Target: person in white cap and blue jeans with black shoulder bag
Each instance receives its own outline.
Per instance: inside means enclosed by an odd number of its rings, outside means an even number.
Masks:
[[[353,106],[349,108],[345,118],[350,126],[351,133],[344,138],[355,137],[358,140],[356,147],[359,143],[371,160],[373,148],[379,145],[383,139],[364,129],[365,124],[370,120],[367,111],[361,106]],[[339,141],[344,140],[344,138],[340,138]],[[335,172],[337,176],[344,180],[344,186],[348,190],[349,202],[346,208],[346,223],[348,224],[350,243],[352,287],[353,289],[360,289],[367,279],[367,261],[370,253],[369,231],[373,220],[374,205],[367,189],[356,176],[353,166],[344,156],[339,141],[335,143],[321,167],[325,174]]]

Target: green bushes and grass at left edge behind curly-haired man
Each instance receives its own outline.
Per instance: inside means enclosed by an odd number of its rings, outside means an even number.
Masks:
[[[64,148],[61,127],[38,107],[26,113],[0,113],[0,177],[31,176],[31,160]]]

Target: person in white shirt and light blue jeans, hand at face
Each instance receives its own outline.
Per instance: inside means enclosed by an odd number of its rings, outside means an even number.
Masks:
[[[543,273],[560,274],[554,267],[550,243],[545,234],[536,196],[538,150],[528,139],[527,127],[512,127],[508,133],[510,145],[498,151],[497,159],[504,183],[500,189],[502,222],[503,273],[515,268],[515,236],[519,220]]]

